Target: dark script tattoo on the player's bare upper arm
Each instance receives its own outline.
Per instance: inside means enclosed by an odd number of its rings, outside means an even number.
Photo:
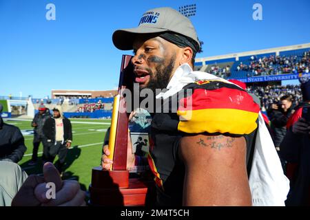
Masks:
[[[216,148],[218,151],[220,151],[220,148],[224,147],[232,147],[235,137],[227,137],[226,141],[223,141],[224,136],[213,136],[213,137],[205,137],[204,139],[199,138],[199,141],[196,142],[199,146],[203,147],[210,147],[210,148]],[[209,144],[205,143],[205,140],[208,142],[211,141]]]

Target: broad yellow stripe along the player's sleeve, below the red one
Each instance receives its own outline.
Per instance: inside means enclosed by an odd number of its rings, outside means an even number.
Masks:
[[[178,111],[178,130],[185,133],[231,133],[244,135],[257,128],[258,113],[239,109]]]

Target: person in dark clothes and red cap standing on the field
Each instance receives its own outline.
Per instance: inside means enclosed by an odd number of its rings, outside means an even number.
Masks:
[[[29,162],[29,165],[32,166],[37,164],[38,159],[38,150],[40,143],[43,145],[43,149],[46,145],[46,138],[43,134],[43,125],[45,121],[51,117],[50,109],[47,109],[44,104],[39,105],[39,112],[34,115],[34,118],[31,122],[31,126],[34,128],[34,136],[33,136],[33,150],[32,150],[32,159]],[[44,151],[44,150],[43,150]],[[42,157],[44,163],[44,155]]]

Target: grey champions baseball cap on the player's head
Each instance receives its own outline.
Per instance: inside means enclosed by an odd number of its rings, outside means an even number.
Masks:
[[[187,36],[200,45],[192,22],[172,8],[147,10],[141,17],[137,28],[116,30],[113,33],[112,40],[119,50],[132,50],[136,34],[154,34],[167,31]]]

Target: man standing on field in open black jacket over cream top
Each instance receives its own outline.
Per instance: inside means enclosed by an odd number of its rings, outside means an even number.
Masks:
[[[65,157],[72,143],[72,126],[70,120],[62,115],[60,108],[53,109],[53,117],[45,121],[43,133],[47,139],[43,154],[48,162],[53,162],[58,155],[58,170],[62,176]]]

